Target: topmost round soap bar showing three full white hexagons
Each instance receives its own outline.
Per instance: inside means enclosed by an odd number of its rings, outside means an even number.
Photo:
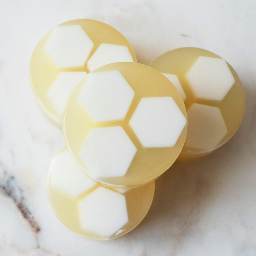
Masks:
[[[186,110],[164,75],[139,63],[118,62],[76,85],[62,130],[88,176],[106,185],[135,186],[156,179],[179,156]]]

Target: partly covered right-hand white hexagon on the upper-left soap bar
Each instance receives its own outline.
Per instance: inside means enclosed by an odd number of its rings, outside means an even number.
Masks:
[[[133,62],[127,46],[117,44],[101,44],[87,61],[90,71],[114,62]]]

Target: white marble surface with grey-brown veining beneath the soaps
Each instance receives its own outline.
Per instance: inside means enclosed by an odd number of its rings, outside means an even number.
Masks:
[[[254,0],[1,1],[0,255],[256,255],[255,9]],[[46,177],[64,141],[29,84],[37,42],[76,18],[118,29],[144,64],[182,46],[213,51],[237,71],[246,95],[235,136],[201,160],[176,162],[156,181],[143,222],[108,242],[77,236],[54,215]]]

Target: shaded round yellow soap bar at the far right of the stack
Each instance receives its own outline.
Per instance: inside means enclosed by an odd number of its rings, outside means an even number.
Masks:
[[[179,90],[187,110],[188,130],[179,160],[211,153],[238,129],[245,97],[237,73],[224,59],[200,48],[166,52],[151,67]]]

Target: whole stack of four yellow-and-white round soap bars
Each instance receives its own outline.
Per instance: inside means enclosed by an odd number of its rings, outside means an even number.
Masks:
[[[125,37],[97,20],[46,33],[30,81],[66,142],[48,171],[53,211],[97,240],[135,228],[157,177],[176,159],[198,159],[227,142],[245,108],[238,75],[218,55],[186,47],[142,65]]]

